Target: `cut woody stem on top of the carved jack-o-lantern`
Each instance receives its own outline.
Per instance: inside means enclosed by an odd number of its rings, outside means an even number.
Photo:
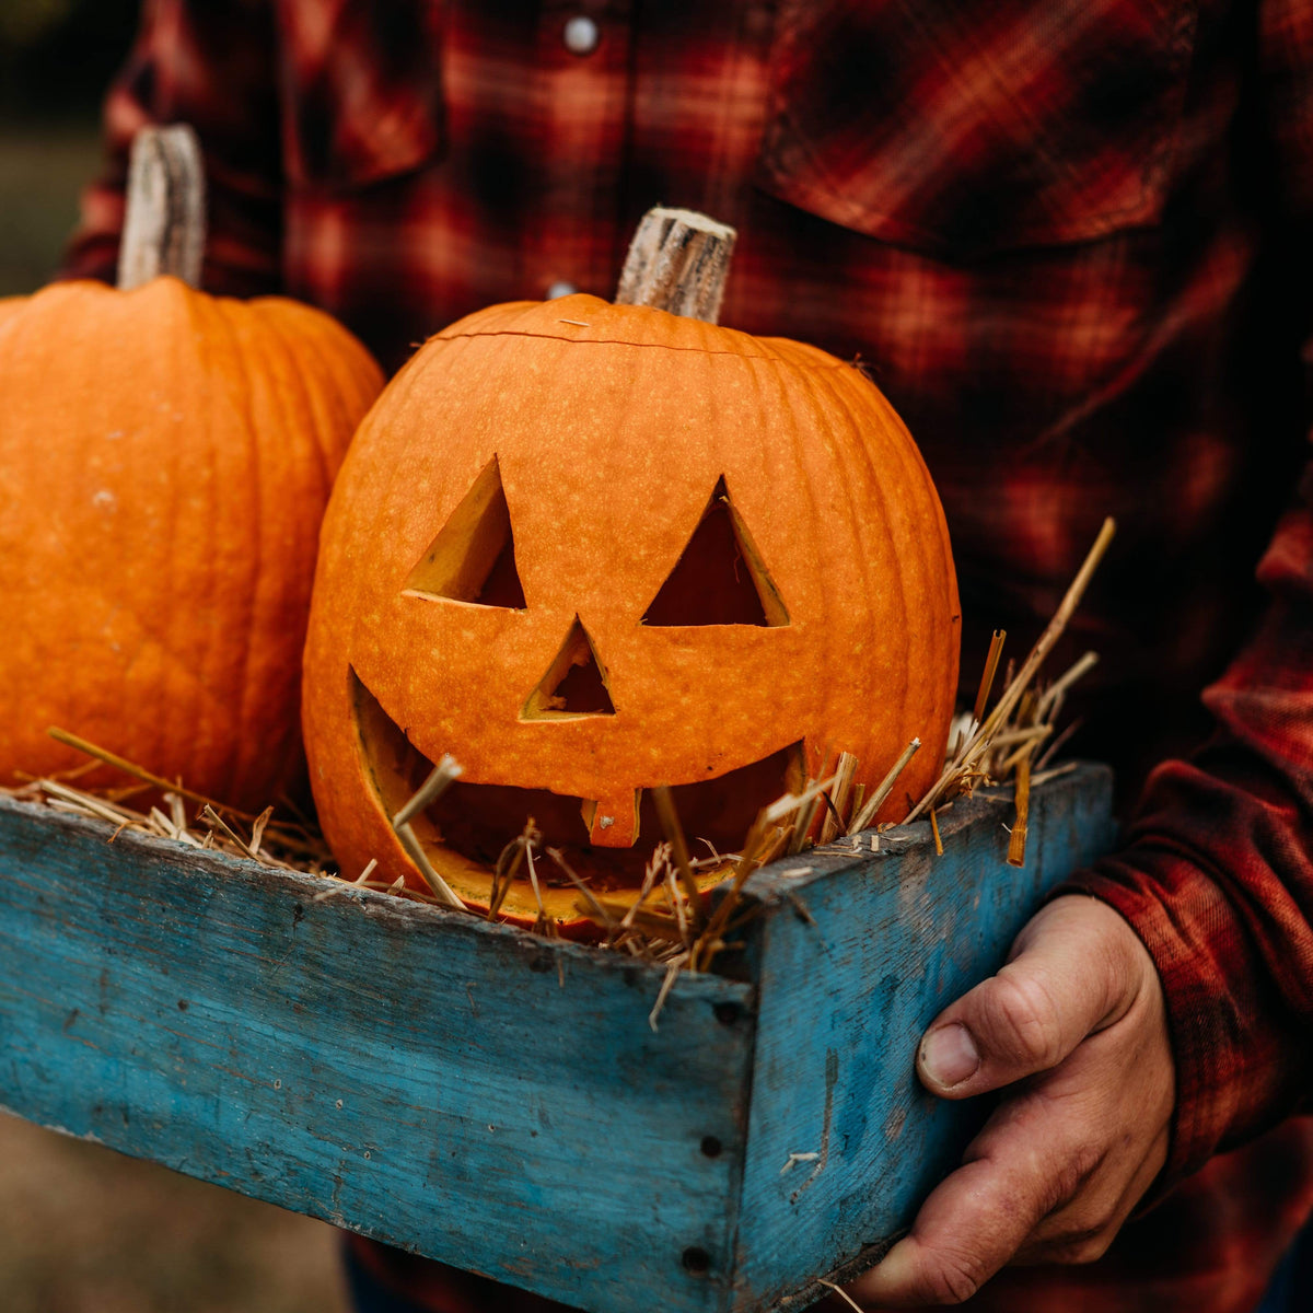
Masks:
[[[737,236],[705,214],[653,207],[629,246],[616,305],[655,306],[716,323]]]

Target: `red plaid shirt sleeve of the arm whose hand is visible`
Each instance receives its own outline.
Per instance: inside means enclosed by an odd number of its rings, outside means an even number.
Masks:
[[[1313,0],[1259,14],[1275,209],[1306,323]],[[1204,692],[1212,739],[1154,772],[1128,847],[1075,881],[1134,926],[1162,979],[1178,1085],[1162,1184],[1313,1109],[1313,462],[1258,578],[1264,618]]]

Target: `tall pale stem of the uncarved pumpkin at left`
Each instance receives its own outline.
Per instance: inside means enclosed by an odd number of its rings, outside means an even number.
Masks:
[[[131,291],[163,273],[196,288],[205,255],[205,165],[186,123],[143,127],[127,168],[127,214],[118,286]]]

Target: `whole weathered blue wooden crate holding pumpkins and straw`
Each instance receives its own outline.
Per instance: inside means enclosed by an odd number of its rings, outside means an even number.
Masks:
[[[936,1011],[1112,840],[1111,776],[758,873],[742,978],[0,800],[0,1104],[591,1313],[798,1309],[873,1263],[979,1111]]]

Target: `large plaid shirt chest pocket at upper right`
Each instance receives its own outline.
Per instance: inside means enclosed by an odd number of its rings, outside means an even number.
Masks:
[[[758,185],[944,255],[1162,214],[1197,0],[781,0]]]

